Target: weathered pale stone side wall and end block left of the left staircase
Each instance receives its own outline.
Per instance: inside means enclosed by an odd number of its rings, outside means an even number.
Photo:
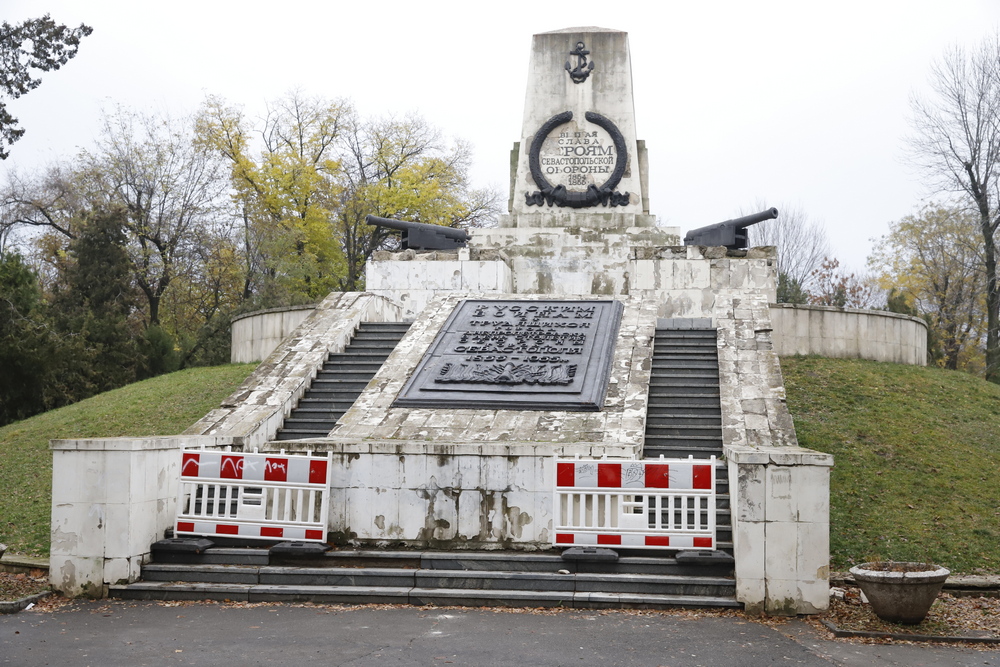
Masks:
[[[274,436],[295,401],[361,321],[392,321],[399,309],[362,293],[334,293],[222,406],[181,436],[53,440],[53,588],[101,597],[112,583],[138,579],[150,545],[176,514],[181,447],[236,449]]]

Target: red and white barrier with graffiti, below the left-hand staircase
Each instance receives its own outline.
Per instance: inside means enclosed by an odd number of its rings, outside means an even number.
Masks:
[[[183,450],[177,535],[326,541],[332,461]]]

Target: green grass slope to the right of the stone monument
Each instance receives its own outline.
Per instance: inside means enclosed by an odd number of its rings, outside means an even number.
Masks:
[[[783,358],[799,444],[834,455],[834,569],[1000,572],[1000,386],[935,368]]]

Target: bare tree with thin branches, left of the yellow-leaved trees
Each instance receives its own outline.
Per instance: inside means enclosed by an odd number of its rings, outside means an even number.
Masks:
[[[148,323],[159,324],[164,292],[187,270],[198,233],[217,215],[222,167],[186,121],[117,109],[105,116],[95,148],[72,166],[9,179],[0,191],[0,227],[35,230],[65,245],[91,211],[124,210],[135,281],[149,304]],[[52,245],[49,254],[58,256]]]

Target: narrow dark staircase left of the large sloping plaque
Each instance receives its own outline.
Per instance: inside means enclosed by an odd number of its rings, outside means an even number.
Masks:
[[[406,322],[362,322],[343,352],[331,352],[276,440],[325,437],[357,400],[410,328]]]

